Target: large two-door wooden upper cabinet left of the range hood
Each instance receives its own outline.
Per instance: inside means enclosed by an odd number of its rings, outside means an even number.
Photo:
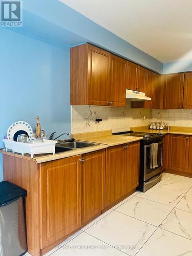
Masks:
[[[125,106],[126,60],[90,44],[71,48],[71,105]]]

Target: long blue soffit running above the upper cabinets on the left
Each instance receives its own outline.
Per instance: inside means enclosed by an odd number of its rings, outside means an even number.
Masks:
[[[163,71],[162,62],[58,0],[25,0],[23,8],[26,30],[46,34],[47,37],[57,38],[58,41],[70,46],[81,44],[83,41],[92,42],[144,67],[159,73]]]

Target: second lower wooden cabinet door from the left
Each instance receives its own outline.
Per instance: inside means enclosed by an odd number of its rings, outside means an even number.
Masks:
[[[82,155],[82,224],[105,207],[105,150]]]

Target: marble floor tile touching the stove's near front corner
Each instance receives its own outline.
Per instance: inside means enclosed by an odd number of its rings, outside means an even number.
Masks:
[[[175,207],[183,196],[184,194],[181,194],[180,191],[174,191],[158,186],[150,188],[145,193],[140,192],[137,194],[137,197],[152,200],[170,207]]]

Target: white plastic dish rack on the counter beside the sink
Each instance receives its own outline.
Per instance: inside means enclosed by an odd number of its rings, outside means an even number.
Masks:
[[[44,143],[23,143],[23,142],[17,142],[9,139],[4,139],[4,144],[6,151],[12,150],[13,153],[20,153],[22,156],[25,154],[30,154],[31,157],[35,154],[47,154],[47,153],[53,153],[55,154],[55,144],[57,141],[55,140],[46,140],[44,139]]]

